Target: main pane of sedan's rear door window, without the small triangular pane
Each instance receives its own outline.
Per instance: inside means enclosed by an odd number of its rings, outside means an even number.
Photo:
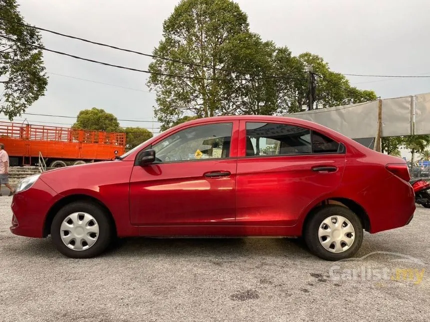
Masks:
[[[277,123],[246,123],[246,156],[312,153],[310,130]]]

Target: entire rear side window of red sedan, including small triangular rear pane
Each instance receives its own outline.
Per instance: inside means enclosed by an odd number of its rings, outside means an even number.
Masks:
[[[343,153],[343,146],[299,126],[246,122],[246,156]]]

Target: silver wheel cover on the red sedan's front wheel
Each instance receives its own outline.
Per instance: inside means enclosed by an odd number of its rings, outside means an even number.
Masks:
[[[98,223],[90,214],[76,212],[68,215],[61,223],[60,237],[68,248],[84,251],[98,239]]]

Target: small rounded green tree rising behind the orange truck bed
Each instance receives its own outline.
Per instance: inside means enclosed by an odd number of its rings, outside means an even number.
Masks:
[[[116,116],[96,107],[81,110],[77,114],[76,122],[72,125],[72,128],[106,132],[121,131]]]

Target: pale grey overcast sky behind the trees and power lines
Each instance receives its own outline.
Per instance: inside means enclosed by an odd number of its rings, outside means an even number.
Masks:
[[[239,0],[250,29],[263,39],[310,51],[341,73],[430,75],[428,0]],[[175,0],[18,0],[28,23],[58,32],[151,53],[161,39],[162,22]],[[150,58],[42,32],[43,43],[82,57],[147,69]],[[155,105],[146,74],[101,66],[45,52],[49,84],[27,112],[76,115],[103,108],[118,119],[150,121]],[[70,77],[133,88],[125,89]],[[382,98],[430,92],[430,78],[349,77]],[[70,124],[73,119],[26,116],[28,120]],[[21,118],[18,118],[21,119]],[[120,122],[121,126],[152,124]],[[53,124],[51,124],[53,125]],[[60,124],[58,124],[60,125]],[[66,126],[66,125],[65,125]],[[157,125],[154,125],[157,132]]]

